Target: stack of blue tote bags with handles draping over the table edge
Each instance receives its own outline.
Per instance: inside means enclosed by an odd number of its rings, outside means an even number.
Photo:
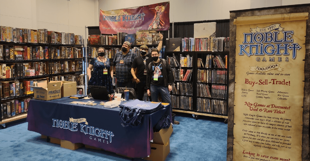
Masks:
[[[119,107],[122,108],[119,112],[122,126],[134,127],[141,124],[143,114],[154,113],[157,110],[163,109],[164,105],[161,102],[150,103],[136,99],[126,104],[121,104]]]

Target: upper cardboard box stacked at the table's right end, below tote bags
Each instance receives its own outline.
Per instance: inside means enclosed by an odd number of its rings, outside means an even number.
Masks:
[[[165,145],[173,132],[172,123],[169,128],[163,128],[159,132],[154,132],[153,143]]]

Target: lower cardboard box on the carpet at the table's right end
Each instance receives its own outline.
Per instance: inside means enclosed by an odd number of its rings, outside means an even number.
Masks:
[[[145,157],[145,160],[152,161],[164,161],[170,153],[170,141],[166,142],[165,145],[152,144],[151,143],[151,154],[149,157]]]

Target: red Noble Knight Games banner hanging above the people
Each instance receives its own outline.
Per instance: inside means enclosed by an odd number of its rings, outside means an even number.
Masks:
[[[99,27],[102,34],[135,34],[137,30],[148,29],[168,30],[169,2],[130,9],[100,10]]]

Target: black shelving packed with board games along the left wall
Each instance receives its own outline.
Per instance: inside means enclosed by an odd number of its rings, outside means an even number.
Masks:
[[[78,38],[79,35],[75,36]],[[47,36],[46,39],[51,40],[51,36]],[[49,43],[41,43],[38,40],[36,43],[0,41],[0,127],[6,127],[5,123],[27,117],[29,101],[33,98],[33,89],[29,86],[33,86],[36,81],[68,80],[69,76],[74,77],[78,74],[77,77],[81,78],[71,80],[77,81],[78,85],[85,89],[84,45],[46,42]],[[67,51],[71,52],[68,52],[68,57],[52,58],[52,47],[66,47]],[[55,66],[55,62],[59,64]],[[59,72],[52,73],[54,70],[51,67]]]

